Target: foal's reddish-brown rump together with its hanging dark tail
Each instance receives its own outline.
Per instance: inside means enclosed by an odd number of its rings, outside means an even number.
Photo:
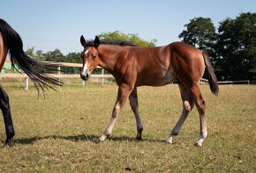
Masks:
[[[206,72],[212,93],[218,94],[217,78],[207,51],[201,51],[182,42],[171,43],[168,47],[171,60],[170,65],[181,83],[191,87],[193,83],[199,83],[200,78]]]

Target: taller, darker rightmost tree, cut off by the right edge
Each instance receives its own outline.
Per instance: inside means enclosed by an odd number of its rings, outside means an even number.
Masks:
[[[256,80],[256,13],[242,13],[220,23],[217,68],[223,80]]]

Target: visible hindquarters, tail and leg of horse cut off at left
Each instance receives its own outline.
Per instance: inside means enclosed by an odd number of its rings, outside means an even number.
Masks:
[[[62,85],[57,78],[50,76],[49,73],[56,71],[54,63],[44,63],[35,61],[26,56],[23,50],[22,40],[18,32],[13,30],[3,19],[0,18],[0,70],[3,68],[6,54],[9,50],[11,55],[11,64],[15,68],[16,64],[27,76],[34,82],[37,90],[41,89],[45,93],[45,88],[54,88],[51,84]],[[19,69],[18,69],[19,70]],[[11,110],[9,104],[9,97],[0,85],[0,107],[4,115],[4,125],[6,130],[5,146],[11,147],[13,145],[13,136],[15,135],[12,120]]]

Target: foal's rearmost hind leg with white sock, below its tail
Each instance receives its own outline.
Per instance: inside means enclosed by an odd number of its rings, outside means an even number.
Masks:
[[[200,138],[195,143],[195,146],[201,147],[203,141],[207,138],[207,115],[206,115],[206,103],[203,99],[200,91],[199,84],[194,84],[190,89],[190,95],[193,98],[195,105],[200,113]]]

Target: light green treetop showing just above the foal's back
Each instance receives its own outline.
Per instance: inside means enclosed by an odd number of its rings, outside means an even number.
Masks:
[[[139,38],[138,34],[128,33],[125,34],[123,32],[115,31],[115,32],[102,32],[98,37],[102,40],[120,40],[120,41],[128,41],[134,45],[138,45],[140,47],[155,47],[155,43],[157,40],[151,40],[148,42]]]

